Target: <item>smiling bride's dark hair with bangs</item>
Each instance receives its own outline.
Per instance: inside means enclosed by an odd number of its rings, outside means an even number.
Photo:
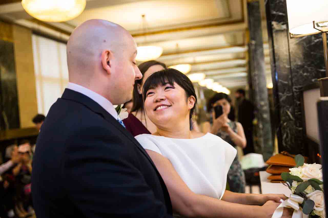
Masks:
[[[146,100],[146,93],[149,89],[156,88],[159,84],[165,85],[166,83],[169,83],[170,85],[174,85],[174,82],[177,83],[179,86],[181,86],[186,93],[187,99],[190,96],[195,97],[195,104],[194,107],[190,110],[189,115],[189,124],[190,124],[190,130],[193,129],[193,116],[195,114],[195,108],[197,105],[197,97],[196,92],[193,83],[190,81],[190,79],[181,73],[180,71],[172,68],[164,69],[158,72],[153,73],[150,75],[147,80],[144,83],[143,86],[143,100]]]

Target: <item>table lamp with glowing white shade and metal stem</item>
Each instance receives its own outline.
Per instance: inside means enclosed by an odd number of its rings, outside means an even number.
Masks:
[[[328,0],[286,0],[290,38],[322,33],[326,77],[318,79],[321,97],[328,96]]]

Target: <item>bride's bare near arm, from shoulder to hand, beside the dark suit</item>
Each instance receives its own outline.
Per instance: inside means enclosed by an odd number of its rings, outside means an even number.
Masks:
[[[171,162],[147,150],[168,188],[173,210],[186,217],[271,217],[279,203],[268,201],[263,206],[242,205],[195,194],[175,171]],[[286,210],[284,214],[289,214]],[[285,217],[285,216],[283,216]],[[291,217],[291,216],[286,216]]]

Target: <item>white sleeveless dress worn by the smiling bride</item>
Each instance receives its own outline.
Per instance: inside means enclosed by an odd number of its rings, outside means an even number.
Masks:
[[[194,139],[142,134],[135,136],[144,149],[169,159],[186,185],[196,194],[221,199],[227,173],[237,151],[218,136],[207,133]]]

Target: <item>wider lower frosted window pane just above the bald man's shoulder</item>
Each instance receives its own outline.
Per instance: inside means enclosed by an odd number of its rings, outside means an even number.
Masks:
[[[44,104],[44,115],[47,116],[51,105],[61,97],[61,87],[56,81],[43,81],[43,104]]]

